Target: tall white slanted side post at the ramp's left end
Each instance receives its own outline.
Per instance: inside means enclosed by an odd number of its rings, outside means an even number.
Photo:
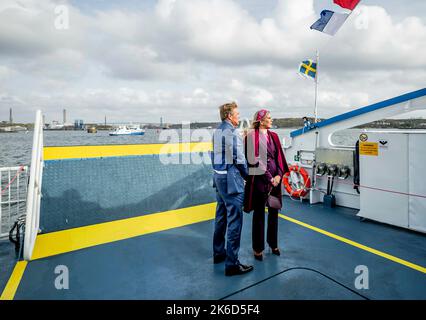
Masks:
[[[30,182],[27,193],[27,211],[24,237],[24,259],[30,260],[40,222],[41,182],[43,176],[43,122],[41,111],[36,113]]]

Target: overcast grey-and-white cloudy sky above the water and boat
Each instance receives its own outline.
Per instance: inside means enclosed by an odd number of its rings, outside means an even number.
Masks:
[[[65,9],[64,9],[65,8]],[[332,0],[1,0],[0,120],[217,121],[312,116],[297,74],[320,52],[319,116],[426,87],[426,1],[362,0],[334,36]],[[68,25],[66,14],[68,13]],[[426,114],[416,113],[415,116]]]

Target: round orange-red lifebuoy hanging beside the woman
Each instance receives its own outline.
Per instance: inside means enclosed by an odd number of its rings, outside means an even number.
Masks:
[[[311,178],[308,172],[298,165],[291,165],[289,170],[283,176],[285,190],[291,197],[304,197],[311,187]]]

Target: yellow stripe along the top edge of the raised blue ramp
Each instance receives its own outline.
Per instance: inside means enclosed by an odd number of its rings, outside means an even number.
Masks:
[[[182,152],[207,152],[211,142],[157,143],[103,146],[44,147],[44,160],[84,159],[100,157],[140,156],[147,154],[172,154]]]

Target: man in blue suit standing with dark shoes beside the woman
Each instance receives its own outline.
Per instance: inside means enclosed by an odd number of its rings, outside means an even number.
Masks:
[[[240,113],[235,102],[219,108],[222,123],[213,136],[213,186],[216,188],[216,218],[213,236],[214,263],[225,261],[225,275],[253,270],[238,260],[243,224],[244,179],[248,176],[242,137],[236,130]],[[228,232],[226,232],[228,230]],[[226,249],[225,249],[225,234]]]

